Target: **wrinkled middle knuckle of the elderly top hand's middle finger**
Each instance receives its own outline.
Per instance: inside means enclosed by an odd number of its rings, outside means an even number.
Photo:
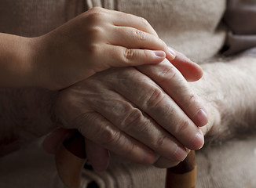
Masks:
[[[159,88],[152,89],[151,94],[148,96],[148,99],[146,99],[146,106],[147,107],[159,107],[159,103],[163,101],[165,98],[165,94],[163,91]]]

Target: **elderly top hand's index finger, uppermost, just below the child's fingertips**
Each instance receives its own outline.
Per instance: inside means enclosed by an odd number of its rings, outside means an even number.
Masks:
[[[189,87],[188,82],[168,60],[158,66],[137,67],[152,78],[188,114],[197,126],[207,124],[207,110],[199,97]]]

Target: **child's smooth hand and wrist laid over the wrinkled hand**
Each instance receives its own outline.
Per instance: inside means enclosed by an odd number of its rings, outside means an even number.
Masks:
[[[141,17],[93,8],[35,38],[38,86],[64,89],[110,67],[173,60],[153,28]]]

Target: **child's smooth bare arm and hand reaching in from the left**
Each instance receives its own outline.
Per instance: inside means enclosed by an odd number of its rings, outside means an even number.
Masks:
[[[0,41],[7,87],[64,89],[110,67],[175,58],[143,18],[98,7],[37,38],[0,34]]]

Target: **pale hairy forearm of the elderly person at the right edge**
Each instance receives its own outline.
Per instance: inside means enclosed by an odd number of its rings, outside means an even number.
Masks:
[[[203,78],[191,85],[210,108],[207,138],[237,138],[256,130],[256,59],[241,57],[202,67]]]

